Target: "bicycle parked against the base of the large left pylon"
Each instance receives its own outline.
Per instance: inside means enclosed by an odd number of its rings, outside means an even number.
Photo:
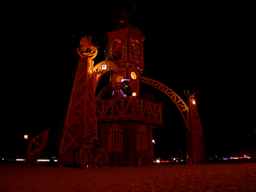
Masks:
[[[90,136],[87,136],[84,139],[84,145],[80,149],[80,160],[81,160],[81,165],[85,169],[89,169],[92,165],[92,161],[95,164],[99,164],[101,167],[106,168],[108,166],[108,154],[107,152],[100,148],[99,145],[99,140],[93,140],[93,143],[89,143],[88,139],[90,137],[94,137],[97,134],[93,134]],[[94,145],[93,146],[93,151],[89,148],[89,144]]]

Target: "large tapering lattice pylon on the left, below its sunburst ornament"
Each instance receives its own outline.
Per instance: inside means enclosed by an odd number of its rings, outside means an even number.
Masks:
[[[79,59],[78,68],[69,100],[59,148],[58,162],[73,163],[74,151],[81,147],[81,139],[97,133],[93,61]]]

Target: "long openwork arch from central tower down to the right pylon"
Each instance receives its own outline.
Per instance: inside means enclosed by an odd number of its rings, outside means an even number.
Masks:
[[[180,114],[184,120],[184,123],[187,126],[187,130],[188,131],[190,130],[189,122],[188,122],[189,121],[189,119],[188,119],[189,108],[186,105],[186,103],[182,100],[182,98],[180,96],[178,96],[178,94],[176,94],[173,90],[171,90],[166,85],[164,85],[158,81],[155,81],[151,78],[140,76],[139,82],[151,85],[152,87],[155,87],[156,89],[158,89],[158,90],[162,91],[164,94],[166,94],[171,99],[171,101],[174,102],[174,104],[180,111]]]

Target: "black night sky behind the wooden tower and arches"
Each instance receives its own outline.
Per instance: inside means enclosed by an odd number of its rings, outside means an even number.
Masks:
[[[1,155],[25,153],[23,135],[33,137],[63,121],[66,116],[72,71],[79,55],[76,48],[83,36],[93,36],[100,44],[94,59],[105,60],[106,32],[119,21],[117,1],[75,4],[18,5],[10,11],[3,41],[7,58],[4,65],[4,138]],[[196,94],[206,146],[210,157],[255,156],[256,134],[252,125],[252,79],[244,75],[245,64],[237,66],[243,38],[238,11],[229,5],[153,4],[136,2],[130,22],[146,37],[144,72],[174,90],[184,101],[182,90]],[[129,6],[127,6],[129,10]],[[164,94],[141,85],[164,100],[164,125],[153,131],[160,153],[175,153],[185,146],[186,127],[175,105]],[[5,122],[5,121],[3,121]],[[158,142],[158,143],[157,143]]]

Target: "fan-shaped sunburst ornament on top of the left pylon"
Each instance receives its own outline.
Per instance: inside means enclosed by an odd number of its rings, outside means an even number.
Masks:
[[[98,49],[99,48],[97,43],[95,42],[95,40],[92,42],[93,37],[89,36],[87,39],[87,36],[82,37],[82,39],[80,40],[80,46],[77,48],[78,54],[81,57],[90,57],[91,59],[95,58],[97,53],[98,53]]]

